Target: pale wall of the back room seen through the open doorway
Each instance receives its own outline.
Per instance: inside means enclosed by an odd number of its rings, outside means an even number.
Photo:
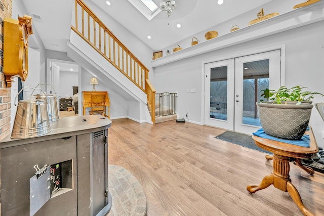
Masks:
[[[78,86],[78,72],[60,70],[60,95],[64,98],[73,96],[73,88]]]

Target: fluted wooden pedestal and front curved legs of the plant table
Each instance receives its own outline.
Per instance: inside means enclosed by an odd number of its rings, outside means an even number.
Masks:
[[[290,171],[289,161],[290,161],[290,157],[273,154],[272,174],[265,176],[259,185],[249,185],[247,187],[247,190],[250,193],[255,193],[259,190],[269,187],[270,185],[273,185],[277,189],[280,189],[285,192],[289,192],[292,199],[294,200],[294,202],[297,204],[297,206],[300,208],[300,210],[303,212],[304,215],[309,215],[309,216],[313,215],[310,211],[306,209],[297,189],[291,183],[291,179],[289,178],[289,171]]]

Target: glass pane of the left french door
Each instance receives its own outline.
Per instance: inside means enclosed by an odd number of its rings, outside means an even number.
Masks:
[[[227,120],[227,66],[211,68],[210,118]]]

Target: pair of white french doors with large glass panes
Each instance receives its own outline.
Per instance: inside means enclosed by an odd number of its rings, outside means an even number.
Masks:
[[[261,90],[280,87],[280,50],[205,65],[205,124],[252,134]]]

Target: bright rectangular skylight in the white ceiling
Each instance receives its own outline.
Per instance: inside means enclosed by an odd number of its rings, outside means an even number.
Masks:
[[[151,20],[161,10],[152,0],[128,0],[141,14]]]

